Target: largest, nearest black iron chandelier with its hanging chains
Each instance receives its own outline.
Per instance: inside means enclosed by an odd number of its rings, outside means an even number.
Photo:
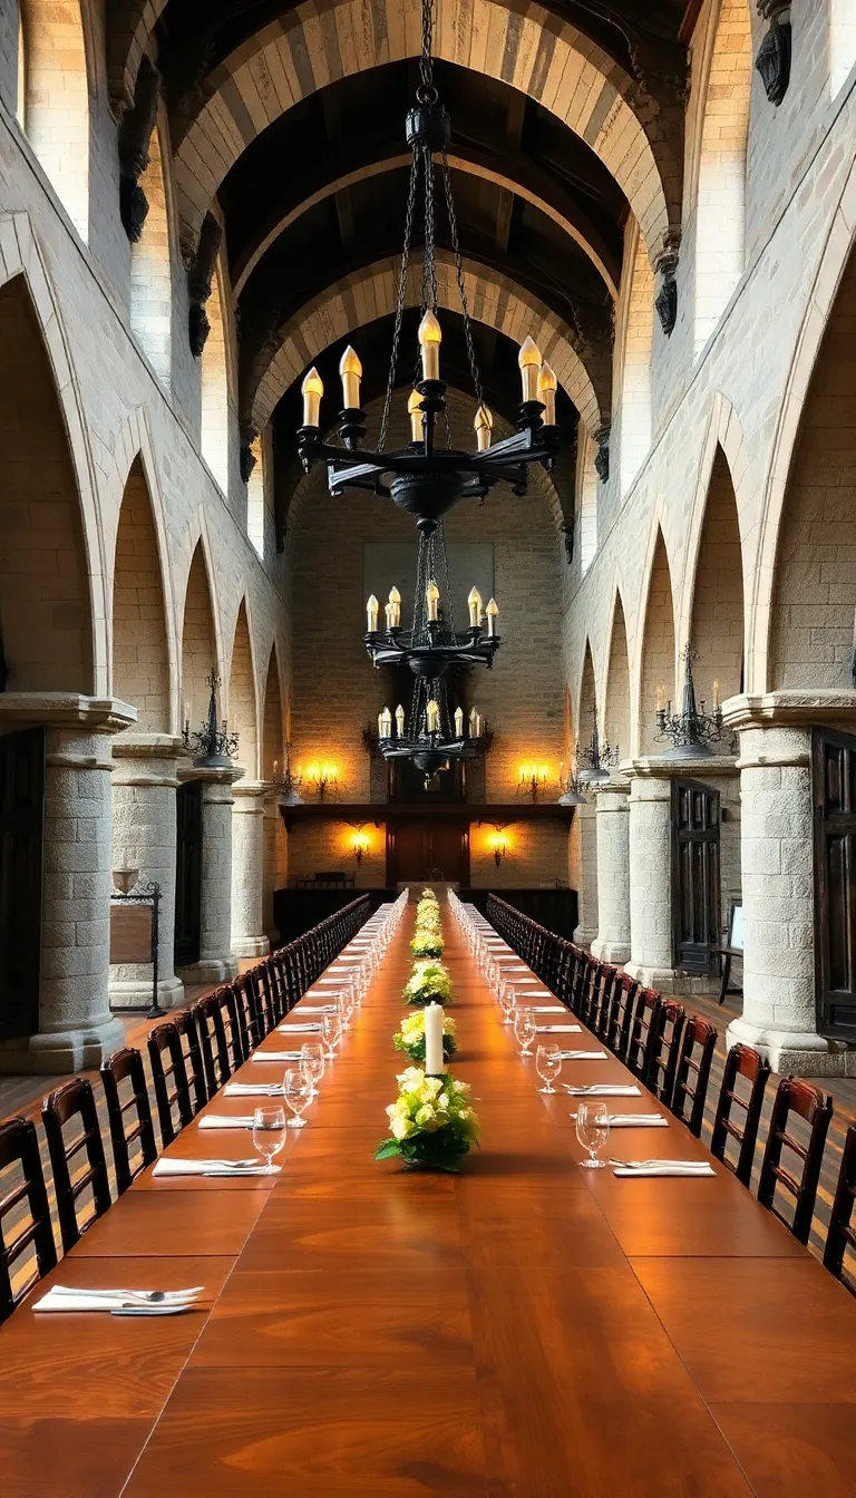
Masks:
[[[436,529],[442,515],[468,497],[484,497],[495,484],[505,481],[516,494],[526,493],[528,464],[541,463],[552,469],[559,448],[556,427],[556,376],[541,360],[538,348],[528,337],[519,355],[523,398],[517,412],[517,430],[513,436],[492,445],[493,418],[484,404],[481,376],[475,360],[472,327],[463,285],[463,264],[457,234],[457,219],[451,195],[448,168],[448,145],[451,124],[439,102],[433,82],[432,60],[432,0],[423,0],[423,46],[420,57],[420,85],[417,105],[406,117],[406,139],[412,150],[411,178],[406,204],[405,243],[399,268],[399,286],[393,346],[387,377],[387,392],[376,449],[363,448],[366,418],[360,410],[361,366],[352,348],[342,357],[342,410],[336,418],[339,443],[330,443],[321,434],[321,397],[324,385],[316,369],[310,369],[303,380],[303,425],[297,433],[303,467],[327,464],[330,493],[334,496],[352,490],[367,490],[384,494],[415,517],[423,535]],[[475,392],[475,451],[460,451],[451,446],[447,430],[447,446],[438,445],[438,422],[445,413],[445,382],[439,377],[439,351],[442,331],[438,321],[436,279],[436,204],[435,204],[435,156],[439,157],[439,175],[448,216],[448,228],[454,253],[454,270],[463,334],[469,357]],[[414,219],[417,199],[424,202],[424,252],[421,264],[421,322],[418,328],[421,377],[408,400],[411,416],[411,442],[406,448],[385,451],[387,430],[397,379],[402,321],[408,292],[408,270],[411,262]]]

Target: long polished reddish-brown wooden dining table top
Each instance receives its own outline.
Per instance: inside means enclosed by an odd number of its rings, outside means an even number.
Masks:
[[[718,1162],[580,1168],[574,1098],[540,1094],[444,927],[478,1152],[457,1176],[372,1159],[405,1064],[408,911],[280,1174],[147,1170],[0,1330],[3,1498],[853,1498],[855,1300]],[[609,1056],[562,1080],[633,1079]],[[196,1121],[166,1153],[249,1140]],[[609,1153],[711,1158],[672,1118]],[[205,1293],[160,1320],[33,1312],[51,1282]]]

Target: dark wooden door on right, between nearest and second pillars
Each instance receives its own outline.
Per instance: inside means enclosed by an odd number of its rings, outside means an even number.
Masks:
[[[676,968],[711,972],[720,932],[720,792],[672,782],[672,947]]]

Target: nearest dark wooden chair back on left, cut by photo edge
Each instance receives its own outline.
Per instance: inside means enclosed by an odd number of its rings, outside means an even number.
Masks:
[[[13,1118],[0,1124],[0,1192],[6,1171],[19,1179],[7,1182],[7,1189],[0,1194],[0,1323],[12,1315],[18,1302],[57,1263],[39,1140],[31,1119]],[[15,1225],[6,1233],[3,1218],[12,1215]],[[34,1264],[24,1275],[28,1248],[33,1249]],[[24,1263],[15,1278],[22,1278],[12,1288],[12,1266],[19,1260]]]

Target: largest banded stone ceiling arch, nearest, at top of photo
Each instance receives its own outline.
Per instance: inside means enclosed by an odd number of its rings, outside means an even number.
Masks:
[[[436,9],[435,55],[502,78],[580,135],[624,189],[655,261],[669,229],[679,228],[679,163],[661,123],[652,118],[649,139],[624,97],[633,87],[627,73],[591,37],[538,4],[517,12],[498,0],[439,0]],[[361,0],[304,0],[259,28],[205,79],[204,102],[178,142],[183,243],[195,244],[229,168],[292,103],[346,73],[418,52],[418,9],[390,6],[370,24]]]

